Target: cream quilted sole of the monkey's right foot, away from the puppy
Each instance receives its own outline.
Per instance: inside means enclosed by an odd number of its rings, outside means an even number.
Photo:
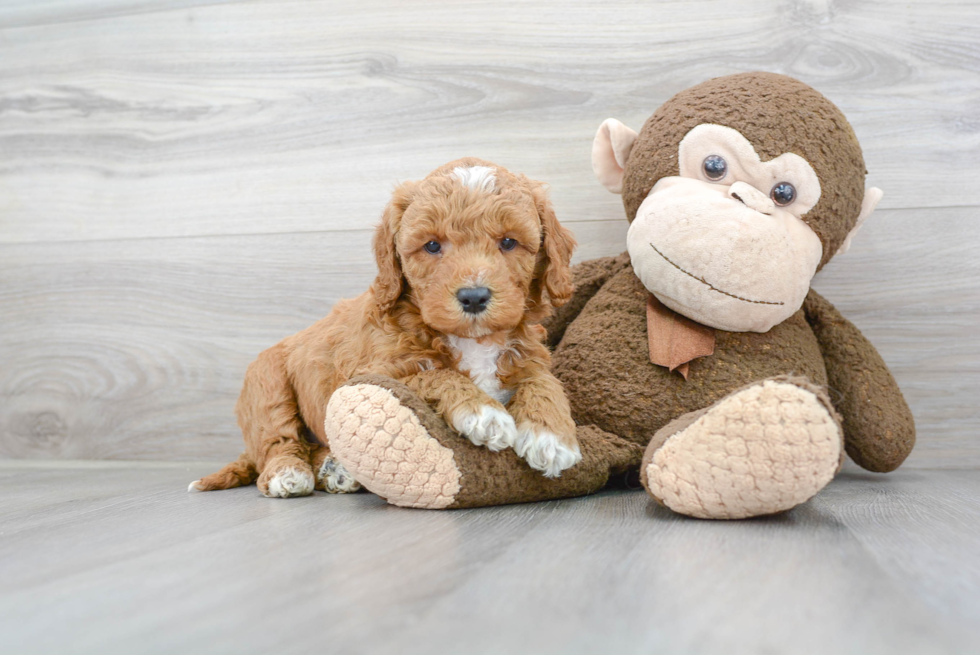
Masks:
[[[665,426],[641,479],[675,512],[737,519],[809,500],[841,461],[842,432],[826,393],[806,380],[774,378]]]

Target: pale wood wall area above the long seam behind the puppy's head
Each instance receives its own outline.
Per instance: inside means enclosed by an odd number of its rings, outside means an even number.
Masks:
[[[2,25],[0,241],[357,229],[464,155],[618,219],[599,123],[756,69],[840,104],[885,207],[980,204],[975,2],[51,0]]]

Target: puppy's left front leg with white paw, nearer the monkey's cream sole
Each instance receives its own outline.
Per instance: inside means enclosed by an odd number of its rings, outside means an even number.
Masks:
[[[402,382],[477,446],[496,452],[512,447],[517,440],[517,426],[504,406],[462,373],[451,369],[422,371]]]

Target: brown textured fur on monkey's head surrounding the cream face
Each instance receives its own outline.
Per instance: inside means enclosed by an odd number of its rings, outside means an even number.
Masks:
[[[626,162],[626,217],[633,220],[657,180],[678,174],[677,147],[702,123],[738,130],[763,161],[792,152],[813,166],[822,193],[803,220],[823,243],[823,267],[861,211],[864,158],[844,114],[815,89],[785,75],[718,77],[681,91],[657,109],[640,130]]]

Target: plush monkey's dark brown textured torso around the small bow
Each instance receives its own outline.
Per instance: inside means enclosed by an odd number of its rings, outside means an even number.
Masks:
[[[716,330],[714,354],[692,361],[684,380],[650,363],[646,298],[633,271],[623,271],[589,300],[556,348],[553,371],[579,425],[646,445],[671,419],[752,382],[793,374],[827,384],[802,310],[765,334]]]

